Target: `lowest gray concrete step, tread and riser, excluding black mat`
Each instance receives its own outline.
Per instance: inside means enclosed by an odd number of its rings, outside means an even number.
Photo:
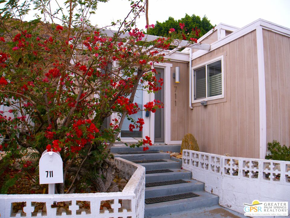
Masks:
[[[145,218],[195,210],[218,204],[219,198],[216,195],[205,191],[197,191],[193,193],[198,194],[199,196],[155,204],[145,204]]]

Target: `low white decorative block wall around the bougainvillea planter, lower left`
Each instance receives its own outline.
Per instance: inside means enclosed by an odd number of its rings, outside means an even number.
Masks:
[[[0,217],[144,217],[145,200],[145,168],[136,163],[115,158],[116,167],[128,178],[131,176],[122,192],[111,193],[87,193],[87,194],[23,194],[23,195],[0,195]],[[104,207],[100,210],[102,201],[110,201],[111,209]],[[122,200],[122,205],[119,203]],[[51,207],[54,202],[69,202],[69,212],[57,210]],[[90,209],[82,209],[77,201],[89,202]],[[13,213],[14,202],[25,202],[23,212],[19,210]],[[34,213],[35,205],[32,202],[46,204],[47,212],[42,210]],[[80,216],[81,215],[81,216]]]

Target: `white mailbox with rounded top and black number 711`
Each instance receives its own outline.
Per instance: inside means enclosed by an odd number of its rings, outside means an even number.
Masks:
[[[45,150],[39,160],[39,184],[63,183],[60,153]]]

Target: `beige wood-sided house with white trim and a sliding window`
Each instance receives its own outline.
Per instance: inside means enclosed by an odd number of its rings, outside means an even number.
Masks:
[[[200,151],[253,158],[264,158],[273,139],[289,146],[289,40],[289,28],[259,19],[243,28],[219,24],[200,47],[170,52],[155,66],[162,92],[138,94],[140,104],[156,98],[165,108],[137,114],[145,126],[132,137],[181,144],[192,133]],[[126,124],[122,129],[122,141],[133,142]]]

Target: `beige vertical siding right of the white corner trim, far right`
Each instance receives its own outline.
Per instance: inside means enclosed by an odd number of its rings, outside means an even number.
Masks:
[[[266,140],[290,145],[290,38],[263,30]]]

